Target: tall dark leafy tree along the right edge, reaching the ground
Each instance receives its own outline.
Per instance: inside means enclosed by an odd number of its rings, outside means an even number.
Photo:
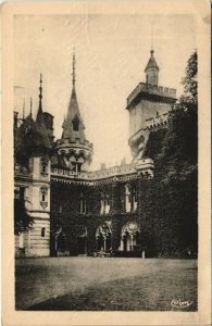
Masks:
[[[163,192],[167,229],[175,248],[197,252],[198,216],[198,85],[197,52],[183,78],[184,95],[169,114],[169,128],[157,155],[158,191]],[[169,215],[169,216],[167,216]],[[178,237],[178,239],[177,239]]]

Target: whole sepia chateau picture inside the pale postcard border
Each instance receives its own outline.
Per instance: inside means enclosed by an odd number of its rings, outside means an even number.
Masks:
[[[16,312],[198,313],[198,28],[13,15]]]

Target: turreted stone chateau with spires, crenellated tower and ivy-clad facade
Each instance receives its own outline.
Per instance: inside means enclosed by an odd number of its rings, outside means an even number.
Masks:
[[[155,162],[151,135],[163,133],[176,90],[159,86],[153,50],[146,66],[146,82],[127,98],[130,164],[90,171],[93,146],[86,139],[76,96],[75,55],[72,93],[54,141],[53,116],[42,109],[42,76],[36,121],[14,113],[15,203],[22,201],[34,221],[15,236],[16,256],[114,255],[154,256],[162,252],[161,234],[147,214],[152,198]],[[162,217],[161,217],[162,218]]]

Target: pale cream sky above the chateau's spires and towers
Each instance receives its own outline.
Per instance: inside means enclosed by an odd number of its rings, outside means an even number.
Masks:
[[[14,110],[33,116],[42,108],[54,116],[61,138],[72,91],[72,54],[76,55],[76,93],[86,138],[93,143],[91,170],[130,162],[126,98],[140,82],[153,45],[159,85],[177,89],[197,49],[191,15],[16,15],[14,20]]]

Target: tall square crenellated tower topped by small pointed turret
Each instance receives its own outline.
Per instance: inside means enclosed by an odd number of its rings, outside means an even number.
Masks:
[[[134,162],[144,158],[151,131],[166,128],[169,112],[175,104],[176,89],[159,86],[159,65],[153,49],[146,66],[146,83],[139,83],[128,96],[129,140]]]

